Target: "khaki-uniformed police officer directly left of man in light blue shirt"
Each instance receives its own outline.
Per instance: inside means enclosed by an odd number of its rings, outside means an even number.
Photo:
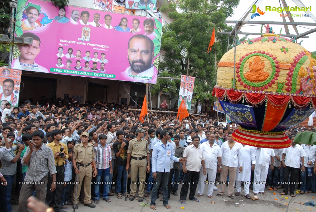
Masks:
[[[130,201],[135,198],[137,190],[137,175],[139,173],[139,192],[138,202],[143,202],[143,195],[145,189],[146,171],[150,172],[150,159],[149,159],[149,148],[148,142],[143,139],[146,130],[138,128],[136,130],[136,138],[129,142],[127,150],[127,164],[126,171],[131,167],[131,197]],[[145,160],[147,158],[147,161]],[[132,159],[132,160],[131,160]],[[131,162],[130,162],[131,161]],[[147,165],[147,166],[146,166]]]

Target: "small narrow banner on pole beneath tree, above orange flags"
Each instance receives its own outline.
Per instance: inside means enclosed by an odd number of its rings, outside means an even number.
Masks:
[[[195,77],[181,75],[178,108],[183,99],[186,109],[191,110],[191,100],[193,96],[194,80],[195,80]]]

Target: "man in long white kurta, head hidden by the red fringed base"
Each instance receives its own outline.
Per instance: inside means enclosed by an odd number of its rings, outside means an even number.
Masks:
[[[244,184],[245,197],[250,199],[249,195],[249,187],[250,187],[250,177],[251,171],[255,169],[256,164],[256,148],[252,146],[248,146],[245,144],[241,144],[240,148],[241,156],[242,156],[242,167],[243,172],[236,172],[236,196],[240,195],[241,192],[241,181],[246,182]]]

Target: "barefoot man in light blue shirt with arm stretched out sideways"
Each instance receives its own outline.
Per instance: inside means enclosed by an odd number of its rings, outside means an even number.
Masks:
[[[153,191],[151,193],[151,203],[150,208],[156,209],[155,201],[157,198],[157,191],[159,185],[162,185],[163,192],[163,205],[169,209],[171,208],[168,204],[168,181],[170,174],[170,159],[175,162],[184,162],[183,158],[176,158],[173,155],[172,144],[167,142],[170,139],[169,133],[167,130],[161,130],[160,132],[161,141],[156,143],[153,148],[152,158],[152,169],[153,169],[153,178],[155,179],[156,184],[153,186]],[[159,158],[159,160],[157,160]]]

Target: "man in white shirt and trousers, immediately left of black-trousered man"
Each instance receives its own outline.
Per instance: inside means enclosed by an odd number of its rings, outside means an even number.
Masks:
[[[274,166],[274,154],[273,149],[270,148],[260,148],[257,147],[256,150],[256,166],[253,178],[253,194],[257,195],[258,193],[265,194],[264,187],[265,181],[267,179],[268,170],[269,170],[269,161],[271,159],[270,169],[273,171]]]

